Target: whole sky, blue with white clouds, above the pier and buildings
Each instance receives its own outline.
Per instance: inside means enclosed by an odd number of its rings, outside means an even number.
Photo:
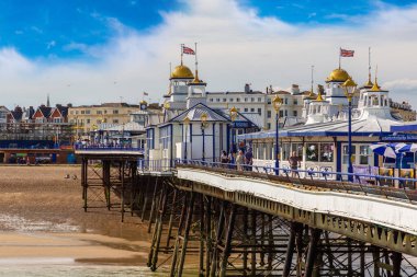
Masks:
[[[398,101],[417,91],[417,1],[393,0],[2,0],[0,105],[53,102],[160,102],[179,45],[199,42],[208,91],[249,82],[323,83],[338,48],[356,50],[342,66],[359,83],[372,67]],[[192,68],[192,57],[185,57]],[[233,73],[232,73],[233,72]]]

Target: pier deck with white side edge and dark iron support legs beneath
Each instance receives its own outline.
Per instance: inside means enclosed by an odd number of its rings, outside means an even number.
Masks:
[[[77,154],[84,210],[140,217],[153,233],[151,270],[170,264],[170,276],[182,276],[198,257],[207,277],[417,274],[415,189],[144,161],[138,152]]]

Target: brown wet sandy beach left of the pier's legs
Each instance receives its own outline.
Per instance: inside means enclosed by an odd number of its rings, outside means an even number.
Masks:
[[[83,211],[79,166],[0,166],[0,266],[146,263],[150,235],[139,218]]]

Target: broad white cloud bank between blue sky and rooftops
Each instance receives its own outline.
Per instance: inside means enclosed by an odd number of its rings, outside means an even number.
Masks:
[[[60,103],[92,104],[119,101],[120,96],[136,102],[142,91],[147,91],[153,101],[161,101],[168,88],[168,65],[179,64],[179,45],[193,46],[198,42],[200,77],[207,81],[208,91],[243,90],[246,82],[259,90],[269,84],[288,88],[291,83],[307,89],[311,65],[315,65],[316,83],[323,83],[337,67],[339,47],[356,50],[356,57],[345,58],[342,67],[362,83],[368,77],[371,46],[380,82],[393,90],[392,96],[397,101],[403,101],[396,99],[404,95],[402,92],[412,90],[408,97],[417,106],[414,86],[398,83],[416,78],[417,58],[413,53],[417,37],[412,35],[417,33],[416,5],[383,5],[369,16],[352,19],[360,24],[351,26],[308,26],[260,18],[255,9],[233,0],[182,2],[183,11],[161,12],[162,23],[143,33],[116,19],[105,19],[115,31],[106,45],[74,42],[66,46],[67,50],[93,57],[93,62],[29,60],[15,49],[3,48],[2,104],[37,105],[47,93],[53,102]],[[188,56],[184,61],[193,68],[193,57]]]

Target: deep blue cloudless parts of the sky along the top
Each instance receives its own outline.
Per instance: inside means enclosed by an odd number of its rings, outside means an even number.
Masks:
[[[351,24],[350,16],[365,15],[382,3],[406,7],[414,1],[244,0],[261,16],[292,24]],[[160,12],[183,11],[171,0],[2,0],[0,46],[12,46],[27,57],[87,58],[81,46],[109,42],[119,30],[111,19],[138,32],[161,23]]]

